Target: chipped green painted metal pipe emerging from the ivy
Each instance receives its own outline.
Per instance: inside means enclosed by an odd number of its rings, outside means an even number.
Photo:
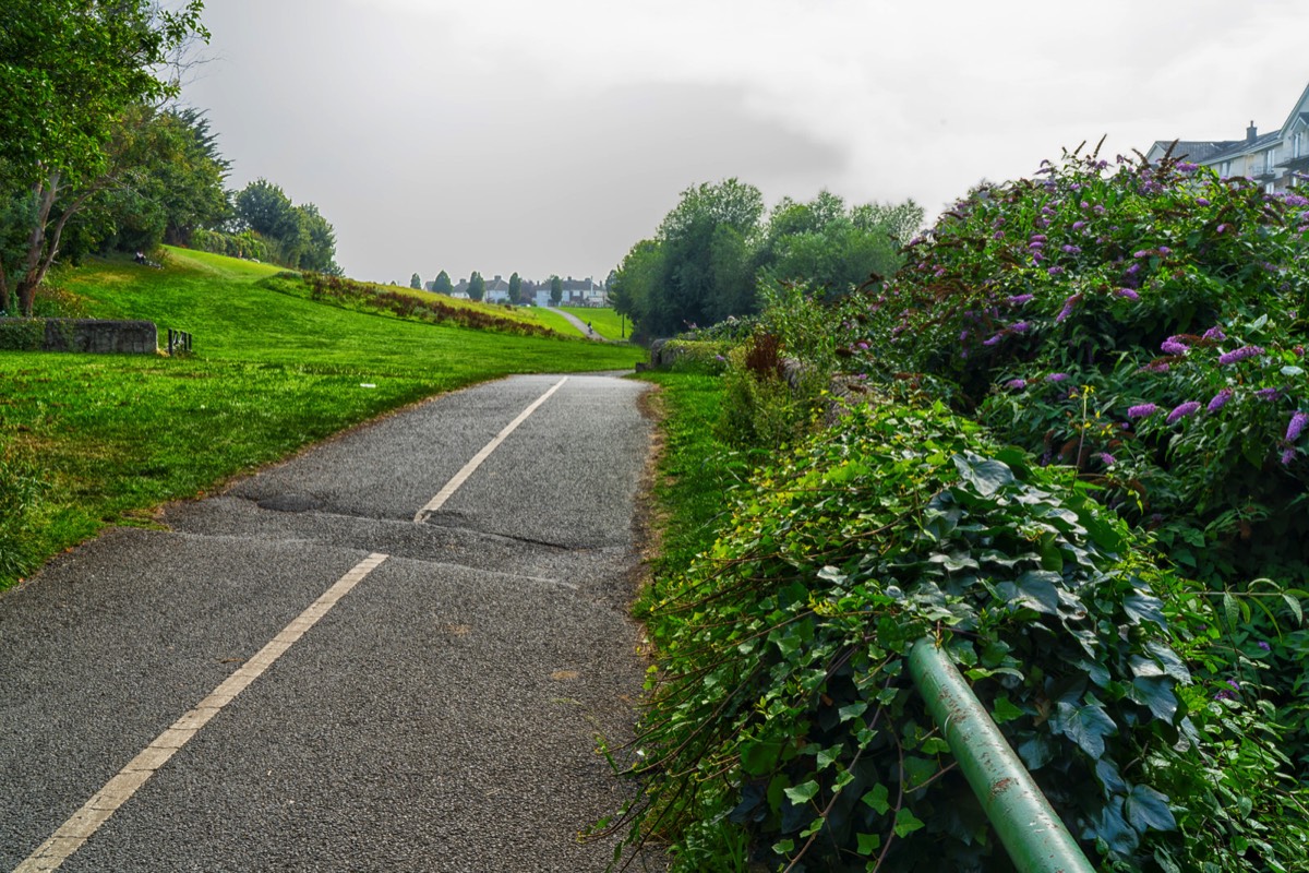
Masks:
[[[908,670],[1014,866],[1094,873],[950,657],[922,639],[910,649]]]

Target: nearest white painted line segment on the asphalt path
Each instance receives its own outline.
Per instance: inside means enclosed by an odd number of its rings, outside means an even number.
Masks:
[[[355,585],[364,581],[364,577],[377,569],[384,560],[386,560],[386,555],[374,552],[336,580],[322,597],[310,603],[309,609],[297,615],[291,624],[281,628],[281,632],[272,637],[268,645],[259,649],[253,658],[242,664],[209,696],[200,700],[194,709],[174,721],[141,754],[130,760],[117,776],[105,783],[105,787],[96,792],[81,809],[73,813],[72,818],[60,825],[59,830],[50,839],[38,846],[37,851],[27,856],[27,860],[16,866],[13,873],[55,870],[60,864],[72,857],[73,852],[80,849],[82,843],[101,825],[109,821],[109,817],[126,804],[136,793],[136,789],[145,784],[145,780],[154,775],[154,771],[168,763],[168,759],[185,746],[209,719],[216,716],[246,686],[272,666],[296,640],[305,635],[305,631],[331,611],[336,601],[348,594]]]

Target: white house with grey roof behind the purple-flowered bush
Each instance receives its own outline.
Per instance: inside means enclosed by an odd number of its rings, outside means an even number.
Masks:
[[[1173,157],[1212,166],[1224,178],[1244,175],[1262,182],[1268,194],[1285,191],[1295,178],[1309,182],[1309,86],[1275,131],[1259,134],[1250,122],[1244,140],[1178,140],[1175,145],[1160,140],[1145,158],[1157,164],[1169,147]]]

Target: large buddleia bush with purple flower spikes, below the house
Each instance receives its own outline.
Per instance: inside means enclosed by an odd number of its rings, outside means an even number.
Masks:
[[[1305,194],[1068,156],[956,204],[843,347],[952,380],[956,408],[1152,531],[1224,606],[1211,692],[1271,704],[1309,784]]]

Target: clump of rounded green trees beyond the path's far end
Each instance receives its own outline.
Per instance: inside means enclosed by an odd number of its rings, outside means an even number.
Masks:
[[[783,199],[764,220],[754,186],[700,185],[682,192],[653,240],[632,246],[611,274],[610,301],[639,334],[669,336],[754,313],[761,283],[804,280],[839,296],[894,271],[922,220],[912,202],[847,208],[827,191],[810,203]]]

